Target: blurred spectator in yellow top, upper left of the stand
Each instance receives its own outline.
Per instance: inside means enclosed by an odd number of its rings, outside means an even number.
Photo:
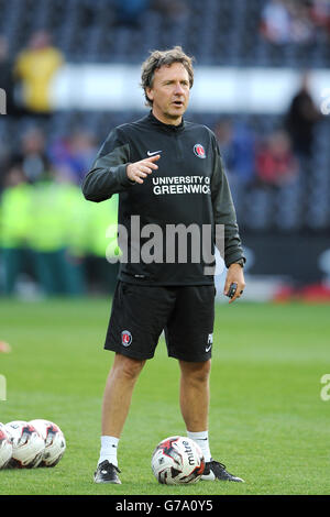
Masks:
[[[28,113],[52,113],[50,87],[63,63],[63,54],[53,46],[51,35],[46,31],[35,32],[14,65],[14,76],[21,87],[21,102]]]

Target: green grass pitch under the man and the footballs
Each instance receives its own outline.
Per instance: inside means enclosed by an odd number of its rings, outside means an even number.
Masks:
[[[102,392],[113,354],[102,350],[105,299],[0,301],[0,354],[7,400],[0,421],[45,418],[67,450],[54,469],[0,471],[0,494],[262,495],[330,493],[330,373],[326,305],[217,307],[211,372],[210,443],[215,459],[245,480],[158,485],[150,462],[157,442],[185,435],[178,367],[163,339],[138,382],[119,447],[122,485],[96,485]],[[191,324],[194,322],[191,321]]]

